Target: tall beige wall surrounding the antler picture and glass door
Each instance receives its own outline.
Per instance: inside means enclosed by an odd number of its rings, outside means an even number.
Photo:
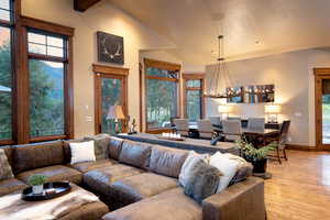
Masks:
[[[103,31],[124,37],[125,64],[129,76],[129,114],[139,122],[139,51],[168,48],[172,42],[160,36],[138,20],[101,1],[85,13],[73,10],[73,0],[24,0],[23,15],[75,28],[74,95],[75,135],[94,133],[94,73],[97,63],[96,32]],[[92,120],[90,120],[92,119]]]

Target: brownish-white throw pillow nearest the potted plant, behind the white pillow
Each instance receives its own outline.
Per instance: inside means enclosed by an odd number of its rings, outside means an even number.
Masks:
[[[233,154],[223,154],[229,160],[234,160],[239,163],[238,172],[234,177],[229,183],[229,186],[238,184],[240,182],[245,180],[249,176],[252,176],[253,166],[251,163],[246,162],[244,158],[233,155]]]

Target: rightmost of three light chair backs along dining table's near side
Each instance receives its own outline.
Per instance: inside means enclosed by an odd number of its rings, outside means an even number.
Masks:
[[[222,121],[222,131],[224,141],[239,141],[241,139],[241,121],[239,120],[224,120]]]

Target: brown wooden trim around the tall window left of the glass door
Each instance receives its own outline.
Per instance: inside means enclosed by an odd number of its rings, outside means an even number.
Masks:
[[[41,21],[34,18],[28,18],[28,16],[21,16],[21,31],[22,31],[22,61],[23,61],[23,69],[24,76],[18,76],[18,78],[21,78],[21,89],[24,95],[19,95],[18,102],[22,102],[22,108],[20,113],[22,114],[23,122],[23,129],[21,131],[18,131],[19,139],[18,143],[30,143],[30,142],[42,142],[42,141],[52,141],[57,139],[74,139],[74,88],[73,88],[73,37],[74,37],[74,29],[64,26],[61,24],[55,24],[52,22]],[[67,41],[67,47],[66,50],[67,56],[65,58],[63,57],[54,57],[54,56],[45,56],[40,54],[33,54],[28,52],[28,29],[34,29],[38,31],[44,31],[47,33],[54,33],[63,35]],[[48,62],[57,62],[64,64],[64,108],[65,108],[65,135],[51,135],[51,136],[37,136],[37,138],[31,138],[30,136],[30,82],[29,82],[29,59],[40,59],[40,61],[48,61]],[[28,92],[26,92],[28,91]]]

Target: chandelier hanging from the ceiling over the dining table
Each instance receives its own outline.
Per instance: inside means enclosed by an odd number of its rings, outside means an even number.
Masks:
[[[232,87],[223,51],[223,35],[219,35],[217,65],[212,67],[208,88],[205,94],[205,96],[208,98],[228,99],[234,97],[237,94],[237,91]]]

